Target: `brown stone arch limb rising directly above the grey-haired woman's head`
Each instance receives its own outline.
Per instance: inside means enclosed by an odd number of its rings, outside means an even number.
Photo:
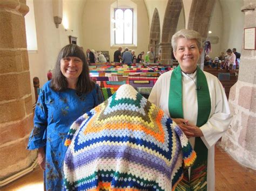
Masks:
[[[187,29],[198,31],[203,38],[207,38],[214,6],[215,0],[193,0]]]

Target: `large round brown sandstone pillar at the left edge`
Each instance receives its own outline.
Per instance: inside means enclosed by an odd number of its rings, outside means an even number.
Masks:
[[[32,129],[32,96],[24,16],[26,0],[0,1],[0,182],[31,166],[26,150]]]

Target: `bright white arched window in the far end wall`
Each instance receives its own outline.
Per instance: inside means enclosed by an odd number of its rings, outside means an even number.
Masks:
[[[114,44],[133,44],[133,9],[114,9]]]

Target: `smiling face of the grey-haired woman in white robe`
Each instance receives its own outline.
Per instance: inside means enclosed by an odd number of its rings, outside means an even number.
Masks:
[[[181,70],[185,73],[193,73],[197,68],[197,62],[202,49],[198,48],[196,39],[179,38],[177,49],[173,52],[180,64]]]

